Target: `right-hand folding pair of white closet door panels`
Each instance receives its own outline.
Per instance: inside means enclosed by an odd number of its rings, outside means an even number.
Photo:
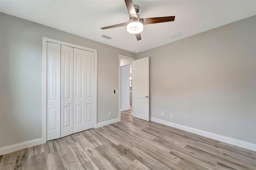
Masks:
[[[93,128],[94,52],[74,48],[74,133]]]

